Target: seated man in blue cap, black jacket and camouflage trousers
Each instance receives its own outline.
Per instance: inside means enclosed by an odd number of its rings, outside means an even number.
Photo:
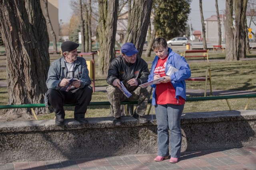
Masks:
[[[152,88],[139,87],[140,84],[148,82],[148,64],[142,58],[137,57],[138,50],[133,43],[125,43],[121,47],[122,55],[116,57],[108,70],[107,87],[108,100],[112,107],[114,116],[113,124],[122,125],[120,102],[133,102],[138,100],[138,105],[134,111],[133,117],[140,123],[146,123],[144,117],[148,100],[151,96]],[[129,98],[120,90],[123,82],[126,89],[132,94]]]

